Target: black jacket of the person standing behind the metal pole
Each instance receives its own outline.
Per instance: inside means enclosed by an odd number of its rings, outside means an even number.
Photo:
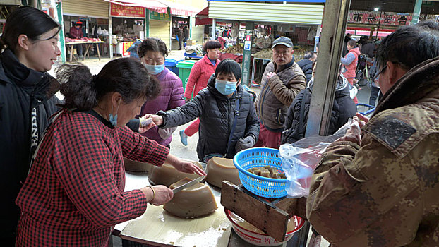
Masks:
[[[285,120],[285,131],[282,132],[282,144],[295,143],[301,138],[305,137],[306,121],[308,121],[309,106],[311,103],[311,94],[313,88],[313,81],[311,81],[308,88],[299,92],[294,102],[288,109],[287,120]],[[303,101],[304,99],[304,101]],[[301,126],[300,115],[303,101],[303,125]],[[347,83],[337,85],[335,91],[335,100],[332,105],[330,131],[329,135],[332,135],[344,123],[347,123],[348,119],[356,114],[356,105],[354,100],[349,96],[349,87]],[[302,127],[302,128],[301,128]]]

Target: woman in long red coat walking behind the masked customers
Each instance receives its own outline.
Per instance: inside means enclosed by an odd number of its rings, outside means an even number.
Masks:
[[[220,56],[220,48],[221,44],[217,40],[205,42],[203,49],[207,54],[203,56],[203,59],[193,64],[184,92],[186,102],[191,100],[193,95],[197,95],[200,90],[208,85],[210,76],[215,73],[217,65],[220,64],[220,59],[218,59],[218,56]],[[200,119],[196,119],[188,128],[180,131],[180,140],[183,145],[188,145],[188,136],[197,133],[199,126]]]

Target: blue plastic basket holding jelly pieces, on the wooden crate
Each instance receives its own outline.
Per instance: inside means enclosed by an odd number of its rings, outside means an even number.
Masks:
[[[282,198],[287,195],[287,179],[271,179],[247,171],[252,167],[270,166],[284,173],[279,150],[266,147],[242,150],[235,155],[233,163],[238,169],[242,185],[251,193],[265,198]]]

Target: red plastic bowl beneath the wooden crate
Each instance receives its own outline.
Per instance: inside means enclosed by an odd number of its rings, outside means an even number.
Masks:
[[[227,219],[229,219],[231,222],[231,228],[234,229],[236,234],[238,234],[238,236],[244,241],[256,246],[278,246],[282,243],[285,243],[291,239],[296,231],[299,231],[303,227],[303,224],[305,224],[305,221],[301,217],[293,216],[296,227],[294,227],[294,230],[288,231],[287,234],[285,234],[284,241],[279,242],[267,234],[260,234],[255,231],[251,231],[251,229],[241,227],[234,219],[231,218],[231,215],[236,216],[233,212],[227,210],[226,208],[224,208],[224,212],[226,213]]]

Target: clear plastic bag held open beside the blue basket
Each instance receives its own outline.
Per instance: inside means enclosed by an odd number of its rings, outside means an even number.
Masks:
[[[311,176],[320,162],[326,147],[338,138],[344,136],[352,124],[358,124],[349,119],[347,123],[339,128],[334,135],[311,136],[303,138],[293,144],[284,144],[279,147],[279,156],[282,160],[282,170],[287,176],[287,187],[285,188],[289,198],[308,197],[311,186]]]

